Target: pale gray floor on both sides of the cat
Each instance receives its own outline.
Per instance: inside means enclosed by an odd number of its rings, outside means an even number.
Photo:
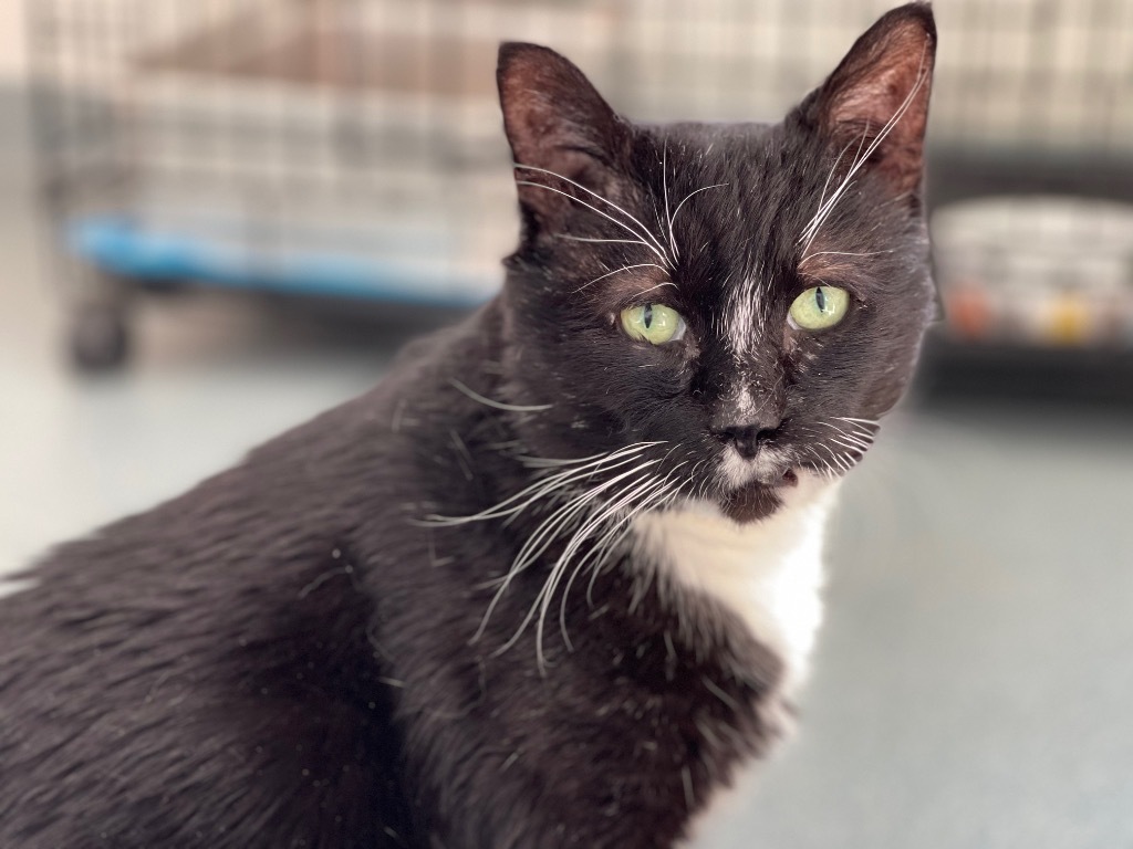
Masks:
[[[0,125],[0,572],[376,380],[391,333],[147,301],[76,378]],[[795,739],[704,846],[1133,846],[1128,420],[905,412],[851,479]]]

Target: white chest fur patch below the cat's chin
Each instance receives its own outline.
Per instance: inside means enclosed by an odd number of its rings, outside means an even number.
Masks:
[[[783,691],[806,677],[821,621],[823,537],[836,484],[800,475],[783,507],[740,525],[707,503],[637,520],[639,549],[678,590],[738,615],[785,666]]]

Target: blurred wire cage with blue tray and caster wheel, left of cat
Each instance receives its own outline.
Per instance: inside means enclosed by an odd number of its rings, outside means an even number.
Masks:
[[[125,353],[138,288],[486,299],[512,224],[491,33],[565,28],[594,53],[612,20],[411,0],[36,0],[28,18],[87,365]]]

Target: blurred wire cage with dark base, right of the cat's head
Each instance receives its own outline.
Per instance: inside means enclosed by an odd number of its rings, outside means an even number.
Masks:
[[[942,392],[1133,400],[1133,5],[942,5]]]

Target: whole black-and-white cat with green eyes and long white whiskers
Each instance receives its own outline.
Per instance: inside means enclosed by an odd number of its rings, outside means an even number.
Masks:
[[[781,123],[645,126],[504,44],[499,297],[0,600],[0,846],[692,839],[934,315],[935,45],[904,6]]]

